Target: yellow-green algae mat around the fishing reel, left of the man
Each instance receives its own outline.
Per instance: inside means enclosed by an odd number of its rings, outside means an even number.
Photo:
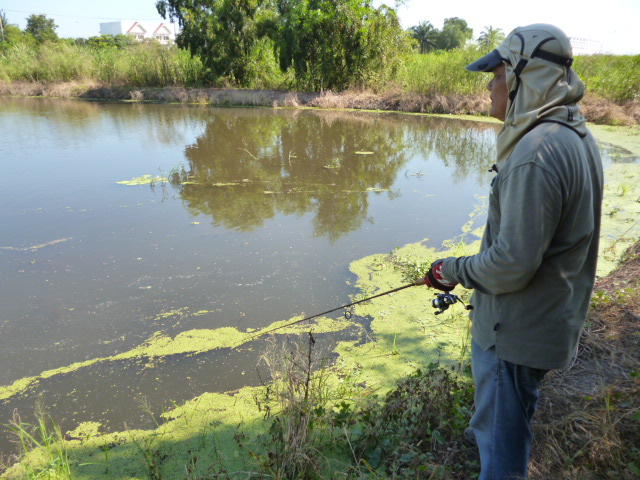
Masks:
[[[395,268],[397,258],[430,263],[437,258],[477,252],[477,243],[455,243],[445,249],[427,247],[426,240],[396,249],[393,255],[371,255],[350,266],[357,275],[357,286],[366,295],[375,295],[407,283]],[[454,293],[468,297],[458,287]],[[433,291],[416,286],[359,304],[354,313],[371,318],[370,342],[340,342],[336,351],[341,360],[362,370],[369,385],[390,389],[397,378],[432,362],[455,364],[464,360],[469,347],[469,319],[460,304],[436,316],[431,305]]]

